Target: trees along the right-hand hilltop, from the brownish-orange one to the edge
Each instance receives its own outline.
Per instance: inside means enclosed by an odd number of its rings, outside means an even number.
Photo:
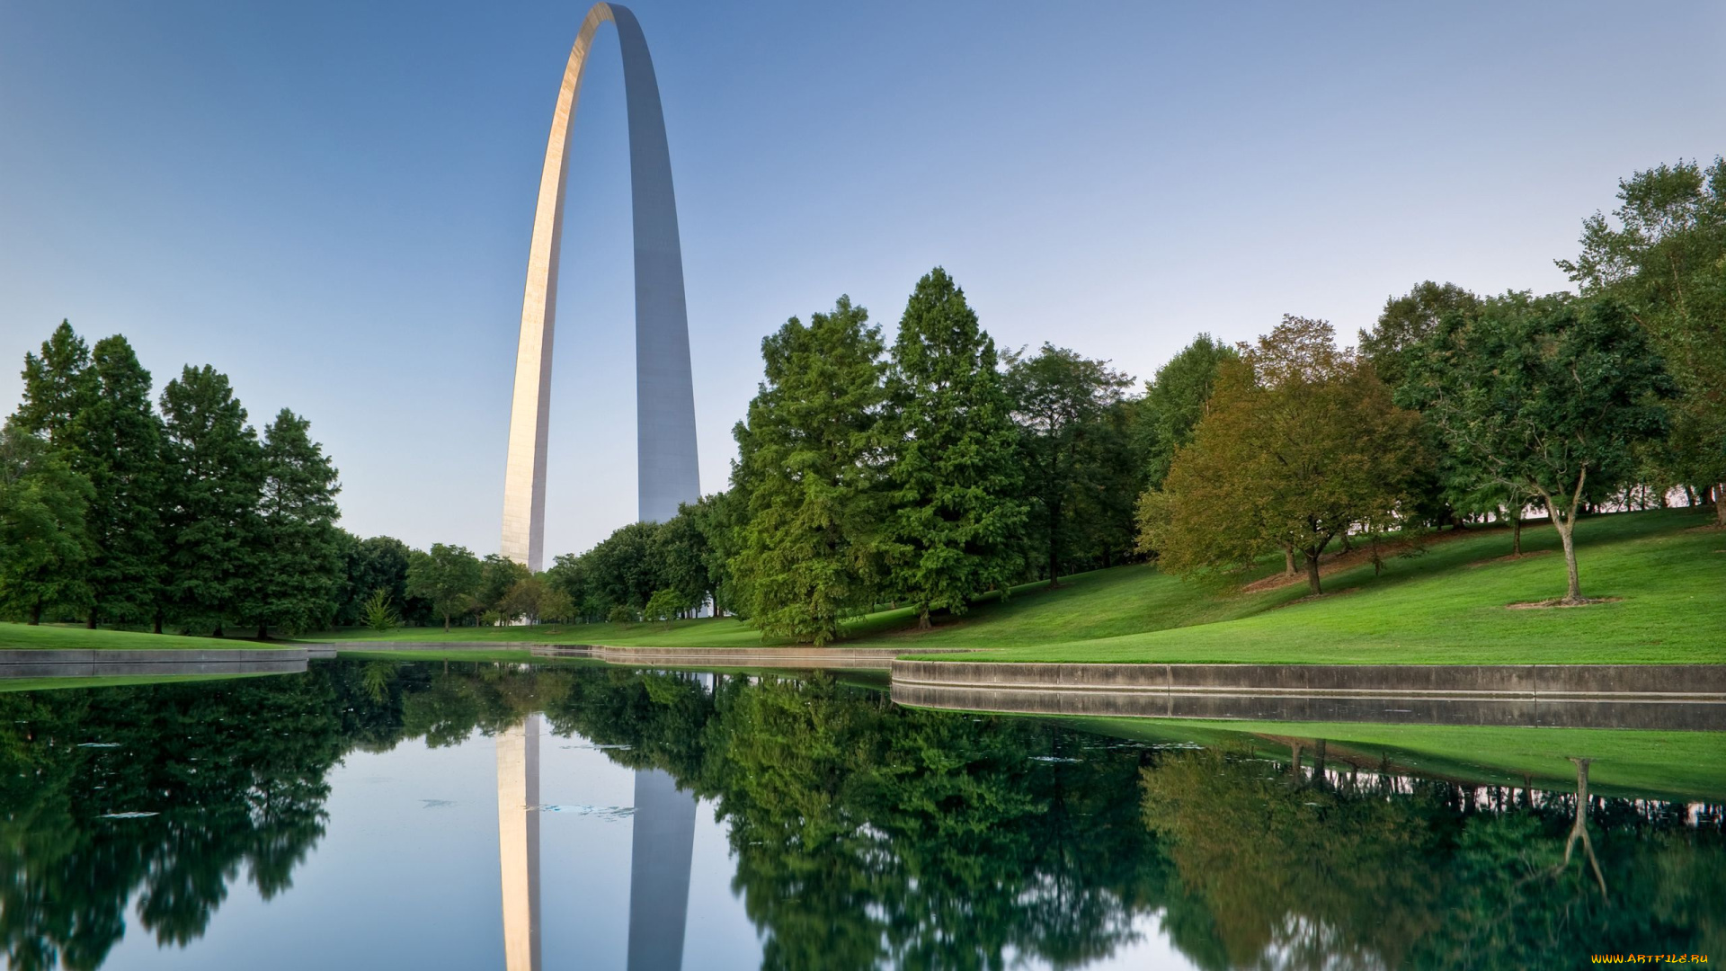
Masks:
[[[1284,318],[1217,366],[1167,480],[1141,498],[1163,568],[1238,579],[1279,548],[1293,572],[1332,541],[1534,506],[1557,527],[1562,603],[1583,603],[1576,518],[1628,494],[1712,492],[1726,525],[1726,161],[1619,187],[1559,261],[1579,294],[1479,297],[1420,283],[1360,351]]]

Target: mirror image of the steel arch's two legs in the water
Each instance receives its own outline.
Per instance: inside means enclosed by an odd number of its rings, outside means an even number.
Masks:
[[[497,852],[504,968],[540,969],[540,715],[497,734]],[[689,921],[696,795],[663,769],[635,771],[630,835],[630,971],[678,971]]]

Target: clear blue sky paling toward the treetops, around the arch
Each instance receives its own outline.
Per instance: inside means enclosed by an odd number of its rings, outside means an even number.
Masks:
[[[1419,280],[1557,290],[1636,169],[1726,152],[1726,5],[639,0],[702,487],[759,340],[946,266],[1005,347],[1150,377]],[[288,406],[343,525],[497,549],[528,230],[578,3],[0,2],[0,406],[60,318]],[[575,126],[547,553],[635,517],[621,67]]]

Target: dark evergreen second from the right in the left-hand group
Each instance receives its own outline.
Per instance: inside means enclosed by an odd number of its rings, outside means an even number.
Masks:
[[[255,577],[247,558],[257,529],[262,449],[228,377],[209,365],[186,365],[167,382],[162,422],[167,598],[183,620],[212,624],[221,636],[249,577]]]

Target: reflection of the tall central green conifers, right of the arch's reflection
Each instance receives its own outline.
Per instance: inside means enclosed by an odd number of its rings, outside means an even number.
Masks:
[[[716,798],[765,968],[1075,966],[1129,940],[1160,883],[1139,753],[1041,722],[910,712],[825,677],[709,696],[623,672],[549,717]]]

